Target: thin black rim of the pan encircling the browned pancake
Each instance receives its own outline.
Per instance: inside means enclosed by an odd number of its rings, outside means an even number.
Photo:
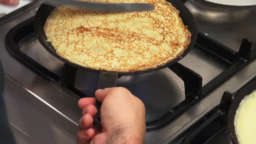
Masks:
[[[191,12],[189,11],[189,9],[187,7],[185,7],[185,5],[180,2],[180,1],[172,1],[172,0],[167,0],[167,2],[171,3],[173,5],[173,7],[175,7],[178,11],[179,11],[179,16],[182,18],[183,20],[183,16],[181,16],[181,14],[186,14],[188,15],[188,17],[190,17],[190,19],[188,21],[190,21],[190,23],[192,22],[192,25],[191,29],[189,29],[190,33],[191,33],[191,41],[189,43],[189,45],[187,46],[187,49],[185,49],[183,51],[183,53],[179,56],[177,56],[176,58],[173,59],[173,61],[171,62],[167,62],[166,64],[164,65],[160,65],[159,67],[156,67],[156,68],[152,68],[152,69],[146,69],[146,70],[138,70],[138,71],[127,71],[127,72],[122,72],[122,71],[108,71],[108,70],[98,70],[98,69],[92,69],[92,68],[88,68],[88,67],[83,67],[81,65],[78,65],[78,64],[75,64],[73,62],[70,62],[68,61],[67,59],[57,55],[56,52],[52,51],[49,49],[49,47],[46,45],[46,43],[49,43],[49,42],[46,42],[45,40],[43,40],[42,38],[40,38],[40,35],[39,35],[39,27],[37,27],[37,23],[39,21],[37,21],[37,17],[39,17],[39,11],[42,9],[42,7],[44,7],[45,5],[47,4],[41,4],[40,7],[38,8],[37,10],[37,13],[36,13],[36,16],[35,16],[35,21],[34,21],[34,30],[36,32],[36,35],[37,35],[37,38],[40,42],[40,44],[43,45],[43,47],[49,52],[51,53],[51,55],[57,57],[58,59],[60,59],[62,62],[65,62],[69,65],[71,65],[72,67],[75,67],[75,68],[78,68],[78,69],[84,69],[84,70],[88,70],[88,71],[91,71],[91,72],[94,72],[94,73],[101,73],[101,71],[104,71],[104,72],[109,72],[109,73],[118,73],[119,76],[125,76],[125,75],[137,75],[137,74],[146,74],[146,73],[150,73],[150,72],[153,72],[153,71],[157,71],[157,70],[160,70],[160,69],[164,69],[164,68],[167,68],[169,67],[170,65],[172,65],[173,63],[176,63],[178,62],[179,60],[181,60],[183,57],[185,57],[189,51],[191,49],[193,49],[195,43],[196,43],[196,39],[197,39],[197,26],[196,26],[196,22],[195,22],[195,19],[193,17],[193,15],[191,14]],[[177,8],[177,5],[179,5]],[[49,6],[49,5],[48,5]],[[50,6],[51,7],[51,6]],[[181,8],[180,8],[181,7]],[[53,7],[54,8],[54,7]],[[184,20],[183,20],[184,22]],[[45,24],[45,22],[43,23],[43,25]],[[187,25],[188,26],[188,25]],[[44,36],[46,37],[45,33],[44,33]],[[50,44],[51,45],[51,44]]]

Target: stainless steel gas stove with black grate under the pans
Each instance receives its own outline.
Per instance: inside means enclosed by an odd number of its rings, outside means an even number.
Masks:
[[[99,75],[64,64],[40,45],[33,30],[40,4],[0,18],[10,125],[18,142],[75,143],[81,116],[77,101],[94,97]],[[200,9],[193,4],[186,3],[200,31],[194,49],[169,68],[118,79],[118,86],[146,105],[149,144],[181,142],[186,131],[216,109],[225,91],[235,92],[256,75],[256,35],[251,32],[256,7],[238,21],[214,23],[197,16]]]

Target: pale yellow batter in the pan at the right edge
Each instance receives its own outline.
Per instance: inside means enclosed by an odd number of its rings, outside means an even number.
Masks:
[[[240,103],[235,116],[235,131],[240,144],[256,143],[256,91]]]

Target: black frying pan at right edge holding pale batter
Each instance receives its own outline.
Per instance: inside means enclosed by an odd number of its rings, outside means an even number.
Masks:
[[[231,101],[231,106],[229,108],[229,115],[228,115],[228,129],[229,129],[229,136],[233,144],[239,144],[237,140],[237,136],[235,133],[235,115],[236,110],[239,107],[240,102],[243,100],[243,98],[246,97],[246,95],[251,94],[253,91],[256,90],[256,77],[254,77],[253,80],[248,82],[247,85],[243,86],[240,90],[238,90]]]

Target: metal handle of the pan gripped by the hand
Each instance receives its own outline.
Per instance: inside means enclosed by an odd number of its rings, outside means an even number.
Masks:
[[[100,79],[98,80],[98,89],[104,89],[108,87],[116,87],[117,86],[117,72],[105,72],[101,71]],[[96,115],[94,116],[94,122],[97,124],[101,124],[101,102],[96,99],[95,106],[98,110]]]

